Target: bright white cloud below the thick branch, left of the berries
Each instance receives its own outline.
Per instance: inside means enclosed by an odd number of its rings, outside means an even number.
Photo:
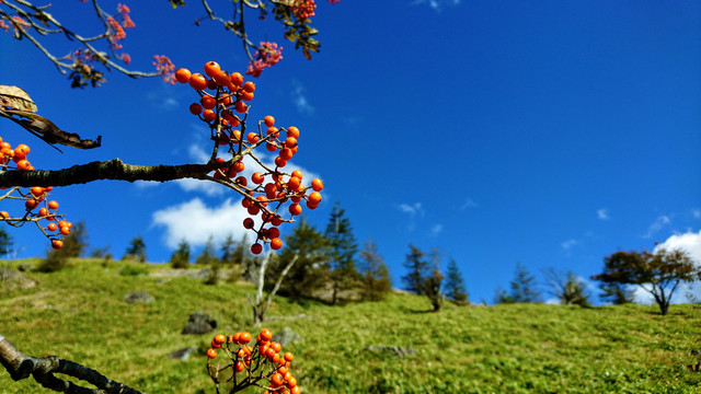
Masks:
[[[153,212],[152,224],[165,228],[164,241],[171,248],[177,247],[182,240],[191,246],[200,246],[209,236],[215,242],[221,242],[227,235],[240,239],[246,233],[243,219],[249,217],[240,202],[228,198],[221,206],[209,208],[195,198]]]

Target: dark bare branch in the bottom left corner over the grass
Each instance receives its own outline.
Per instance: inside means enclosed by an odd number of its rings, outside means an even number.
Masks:
[[[100,372],[79,363],[61,360],[56,356],[36,358],[27,357],[18,350],[0,334],[0,363],[14,381],[30,375],[42,386],[67,394],[143,394],[119,382],[115,382]],[[87,389],[54,375],[62,373],[88,382],[97,389]]]

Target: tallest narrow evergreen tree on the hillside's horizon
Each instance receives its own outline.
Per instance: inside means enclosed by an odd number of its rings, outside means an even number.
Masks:
[[[350,220],[338,202],[331,210],[329,224],[324,233],[329,243],[330,279],[332,303],[338,301],[340,292],[358,286],[358,273],[355,268],[355,254],[358,245],[353,235]]]

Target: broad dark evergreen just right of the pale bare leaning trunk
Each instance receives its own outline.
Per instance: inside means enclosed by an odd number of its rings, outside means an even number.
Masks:
[[[329,277],[327,247],[326,239],[304,218],[300,219],[292,233],[285,236],[279,258],[271,265],[271,278],[277,278],[295,255],[298,256],[285,276],[280,293],[291,298],[312,298],[322,290]],[[272,286],[266,283],[266,288]]]

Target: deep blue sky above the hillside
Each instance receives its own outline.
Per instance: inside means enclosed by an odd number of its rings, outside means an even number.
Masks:
[[[54,14],[93,27],[71,16],[88,11],[74,3]],[[196,2],[129,7],[135,68],[165,54],[193,70],[245,69],[239,42],[194,26]],[[314,26],[322,49],[307,61],[273,22],[251,21],[254,39],[284,47],[256,81],[252,115],[300,128],[294,162],[325,184],[308,219],[323,229],[340,201],[395,286],[410,243],[456,259],[478,302],[508,287],[517,262],[541,279],[548,267],[588,278],[606,255],[656,242],[701,258],[700,3],[319,1]],[[37,169],[203,161],[208,131],[187,113],[191,89],[112,73],[100,89],[71,90],[28,43],[0,34],[0,54],[2,83],[24,88],[39,114],[103,136],[99,150],[61,155],[0,124],[3,139],[30,143]],[[85,221],[91,247],[120,257],[140,234],[148,258],[166,262],[182,237],[200,247],[243,234],[238,197],[211,186],[99,182],[54,197]],[[35,229],[13,235],[19,256],[45,253]]]

